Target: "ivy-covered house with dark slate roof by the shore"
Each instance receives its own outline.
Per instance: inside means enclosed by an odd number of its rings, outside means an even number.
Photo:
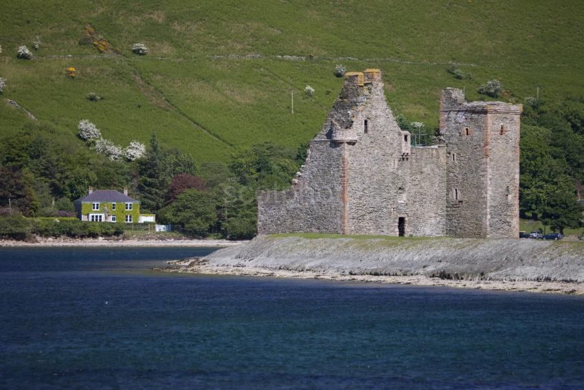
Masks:
[[[142,224],[155,222],[154,214],[140,214],[140,202],[115,190],[96,190],[89,187],[88,194],[74,202],[77,217],[91,222],[126,222]]]

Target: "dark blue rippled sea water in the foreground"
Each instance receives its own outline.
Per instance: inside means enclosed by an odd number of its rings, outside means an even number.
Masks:
[[[584,298],[166,274],[202,248],[0,248],[5,389],[582,389]]]

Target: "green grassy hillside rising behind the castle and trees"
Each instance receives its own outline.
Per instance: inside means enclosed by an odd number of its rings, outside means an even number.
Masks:
[[[478,99],[478,85],[498,78],[511,100],[535,95],[537,86],[546,98],[581,96],[583,22],[575,0],[21,0],[0,12],[2,98],[63,137],[74,138],[77,122],[89,119],[122,146],[157,133],[198,162],[227,161],[257,142],[295,149],[311,139],[341,89],[337,63],[382,69],[392,109],[429,127],[438,125],[442,87],[464,87]],[[79,45],[88,24],[120,54]],[[16,59],[17,47],[31,48],[37,35],[34,59]],[[137,42],[148,56],[131,53]],[[449,61],[472,78],[453,78]],[[306,85],[315,96],[303,94]],[[89,102],[89,92],[104,99]],[[28,120],[0,104],[0,134]]]

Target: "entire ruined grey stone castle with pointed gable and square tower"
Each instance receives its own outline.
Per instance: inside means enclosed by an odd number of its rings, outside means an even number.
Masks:
[[[412,146],[379,69],[347,73],[291,188],[258,193],[258,232],[518,237],[521,109],[442,89],[443,144]]]

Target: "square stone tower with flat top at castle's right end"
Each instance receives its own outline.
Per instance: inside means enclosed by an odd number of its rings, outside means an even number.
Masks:
[[[521,111],[504,102],[466,102],[460,89],[442,89],[447,235],[519,237]]]

